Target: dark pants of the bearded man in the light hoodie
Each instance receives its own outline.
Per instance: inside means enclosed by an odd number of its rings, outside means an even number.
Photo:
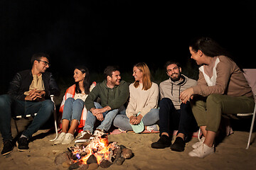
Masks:
[[[190,103],[181,103],[181,109],[176,110],[170,98],[162,98],[159,103],[159,128],[160,135],[162,132],[167,132],[169,136],[172,136],[174,130],[185,136],[198,130]]]

